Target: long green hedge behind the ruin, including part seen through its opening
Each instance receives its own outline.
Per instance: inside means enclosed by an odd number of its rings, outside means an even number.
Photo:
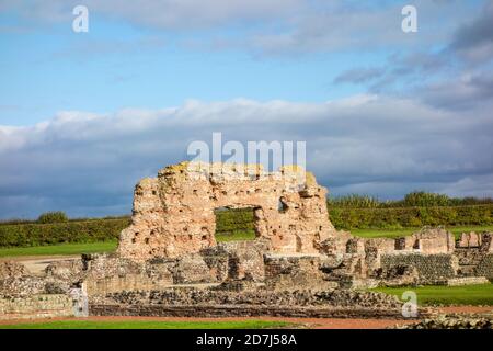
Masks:
[[[216,234],[234,235],[254,229],[251,208],[216,213]],[[493,225],[493,204],[474,206],[340,208],[329,207],[329,216],[340,229],[405,228],[425,225]],[[115,240],[130,218],[70,220],[54,224],[0,225],[0,247],[28,247],[61,242]]]

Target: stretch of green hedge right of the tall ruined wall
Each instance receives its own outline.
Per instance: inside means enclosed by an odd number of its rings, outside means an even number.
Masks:
[[[339,229],[492,225],[493,204],[475,206],[336,208],[329,217]]]

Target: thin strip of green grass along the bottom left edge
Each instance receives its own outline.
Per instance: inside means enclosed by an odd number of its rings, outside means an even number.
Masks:
[[[267,320],[239,321],[156,321],[156,320],[54,320],[0,325],[0,329],[265,329],[294,324]]]

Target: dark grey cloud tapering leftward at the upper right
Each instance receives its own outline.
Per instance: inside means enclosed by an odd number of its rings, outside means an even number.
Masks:
[[[445,2],[444,2],[445,4]],[[342,72],[334,83],[363,84],[371,93],[420,99],[434,107],[490,109],[493,101],[493,2],[457,24],[440,47],[389,55],[374,67]]]

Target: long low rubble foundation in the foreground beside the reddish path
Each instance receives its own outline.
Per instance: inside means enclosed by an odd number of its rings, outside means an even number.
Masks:
[[[424,310],[424,313],[428,313]],[[402,318],[402,303],[375,292],[331,291],[232,291],[169,288],[153,292],[121,292],[92,296],[94,316],[284,316],[312,318]]]

